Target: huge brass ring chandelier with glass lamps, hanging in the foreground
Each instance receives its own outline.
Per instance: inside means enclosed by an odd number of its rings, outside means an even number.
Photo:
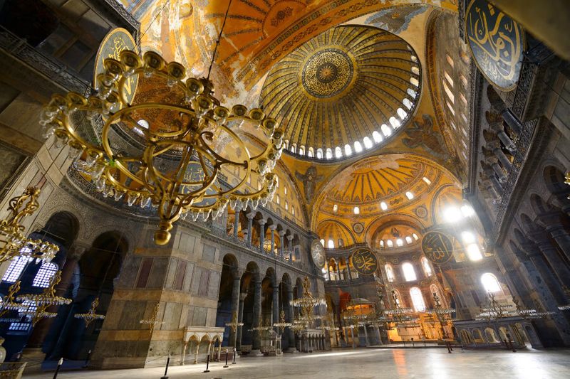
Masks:
[[[104,196],[157,208],[157,245],[167,244],[172,223],[181,217],[207,220],[222,215],[228,203],[244,209],[249,202],[257,208],[271,200],[276,190],[271,171],[281,156],[283,131],[263,110],[220,105],[209,73],[208,78],[187,78],[184,66],[167,63],[153,51],[141,59],[123,50],[119,60],[105,59],[104,67],[96,80],[97,95],[53,95],[41,124],[47,134],[55,134],[57,146],[68,145],[70,156],[81,159]],[[135,93],[128,102],[134,80],[162,95]],[[81,128],[85,123],[93,133],[81,132],[88,129]],[[265,140],[254,154],[250,151],[256,146],[246,146],[239,136],[246,127],[254,139]],[[130,141],[126,147],[125,139]],[[220,183],[222,172],[237,172],[238,180]],[[260,186],[250,191],[252,173],[259,174]]]

